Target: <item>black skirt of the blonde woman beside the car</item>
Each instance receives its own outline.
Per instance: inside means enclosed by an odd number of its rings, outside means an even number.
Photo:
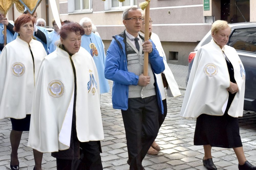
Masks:
[[[223,116],[202,114],[197,118],[194,145],[211,145],[212,147],[242,147],[239,134],[238,118],[227,114],[235,94],[229,92],[228,104]]]

